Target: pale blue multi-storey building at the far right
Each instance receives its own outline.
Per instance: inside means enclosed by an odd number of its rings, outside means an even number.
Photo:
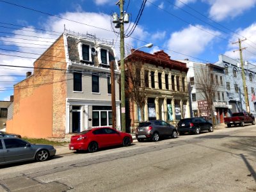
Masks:
[[[225,68],[229,115],[240,111],[246,111],[240,60],[233,60],[232,58],[221,54],[219,56],[219,61],[216,62],[215,65]],[[255,65],[252,65],[252,63],[244,62],[244,72],[246,76],[246,87],[248,92],[250,113],[256,115],[256,100],[253,99],[253,94],[255,94],[256,88]]]

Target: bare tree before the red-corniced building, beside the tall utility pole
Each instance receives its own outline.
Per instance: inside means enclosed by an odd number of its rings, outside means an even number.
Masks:
[[[144,107],[147,99],[148,71],[139,58],[125,62],[125,95],[140,109],[141,121],[144,121]],[[146,77],[146,78],[144,78]]]

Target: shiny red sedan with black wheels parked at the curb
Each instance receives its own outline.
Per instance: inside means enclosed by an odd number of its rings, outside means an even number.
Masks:
[[[88,150],[96,152],[99,148],[113,145],[131,145],[132,136],[129,133],[119,132],[110,127],[88,129],[72,136],[70,139],[70,150]]]

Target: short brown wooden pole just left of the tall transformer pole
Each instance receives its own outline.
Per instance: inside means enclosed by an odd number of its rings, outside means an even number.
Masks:
[[[112,127],[113,129],[116,129],[115,61],[110,62],[110,69],[111,69]]]

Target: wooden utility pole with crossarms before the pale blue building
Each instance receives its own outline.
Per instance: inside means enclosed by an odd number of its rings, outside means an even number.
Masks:
[[[246,40],[246,38],[244,40]],[[240,62],[241,62],[243,88],[244,88],[244,100],[245,100],[246,112],[250,113],[250,107],[249,107],[249,102],[248,102],[248,93],[247,93],[246,81],[245,81],[245,76],[244,76],[244,63],[243,63],[243,53],[242,53],[242,51],[244,49],[246,49],[246,47],[244,47],[244,48],[241,47],[241,42],[243,42],[244,40],[240,40],[240,38],[238,38],[238,42],[234,42],[232,44],[239,43],[239,49],[236,51],[240,52]],[[233,51],[233,52],[236,52],[236,51]]]

